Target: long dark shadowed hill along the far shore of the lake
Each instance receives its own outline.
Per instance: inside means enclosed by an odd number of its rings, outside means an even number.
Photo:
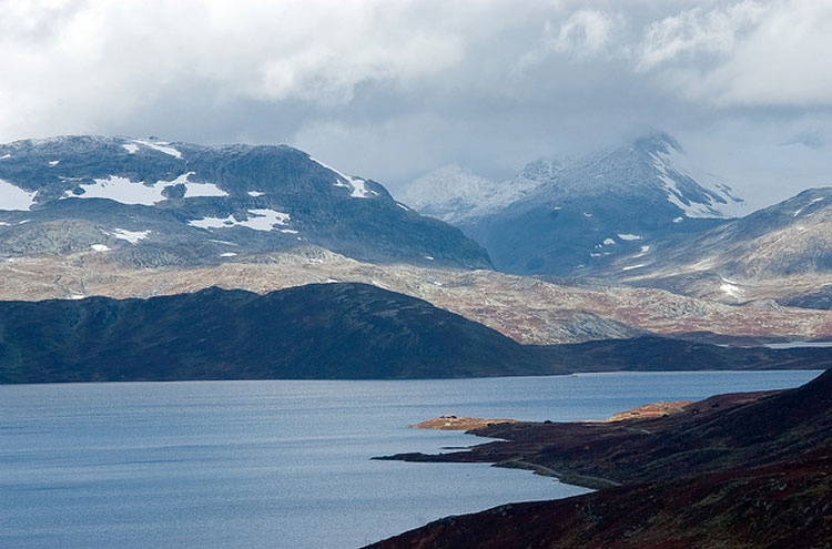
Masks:
[[[0,302],[0,383],[364,379],[832,366],[826,349],[662,337],[520,345],[427,302],[365,284],[258,295]]]

